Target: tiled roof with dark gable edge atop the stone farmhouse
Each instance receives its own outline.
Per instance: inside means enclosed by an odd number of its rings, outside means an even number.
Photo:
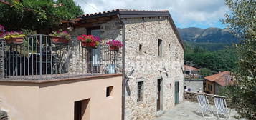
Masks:
[[[174,24],[174,20],[171,18],[171,14],[169,13],[168,10],[144,11],[144,10],[131,10],[131,9],[114,9],[112,11],[103,11],[95,14],[85,14],[85,15],[77,16],[77,19],[75,19],[75,21],[82,21],[86,19],[95,19],[99,17],[116,16],[116,15],[118,15],[118,17],[120,17],[121,19],[136,18],[136,17],[168,16],[169,20],[171,21],[172,28],[174,28],[174,34],[176,34],[177,38],[179,39],[179,42],[181,43],[182,48],[185,49],[181,36],[179,35],[179,32]]]

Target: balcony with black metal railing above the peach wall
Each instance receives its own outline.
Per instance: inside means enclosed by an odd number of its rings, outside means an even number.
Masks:
[[[120,49],[122,51],[122,49]],[[23,44],[0,40],[0,79],[46,80],[122,73],[122,54],[106,45],[87,49],[80,41],[53,44],[47,35],[25,36]]]

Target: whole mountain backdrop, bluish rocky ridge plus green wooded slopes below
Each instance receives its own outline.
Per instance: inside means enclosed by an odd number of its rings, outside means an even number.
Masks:
[[[237,43],[229,31],[218,28],[178,29],[186,46],[185,64],[207,68],[211,71],[232,71],[237,67]]]

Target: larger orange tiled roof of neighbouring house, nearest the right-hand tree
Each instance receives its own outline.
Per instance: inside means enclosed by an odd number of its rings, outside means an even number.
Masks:
[[[226,86],[226,84],[232,84],[232,76],[229,71],[222,71],[219,74],[214,74],[211,76],[206,76],[204,79],[208,81],[214,81],[221,86]]]

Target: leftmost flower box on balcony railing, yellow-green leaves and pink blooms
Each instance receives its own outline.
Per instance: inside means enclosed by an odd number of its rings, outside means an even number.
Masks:
[[[6,40],[6,44],[22,44],[24,36],[20,31],[6,31],[1,35]]]

